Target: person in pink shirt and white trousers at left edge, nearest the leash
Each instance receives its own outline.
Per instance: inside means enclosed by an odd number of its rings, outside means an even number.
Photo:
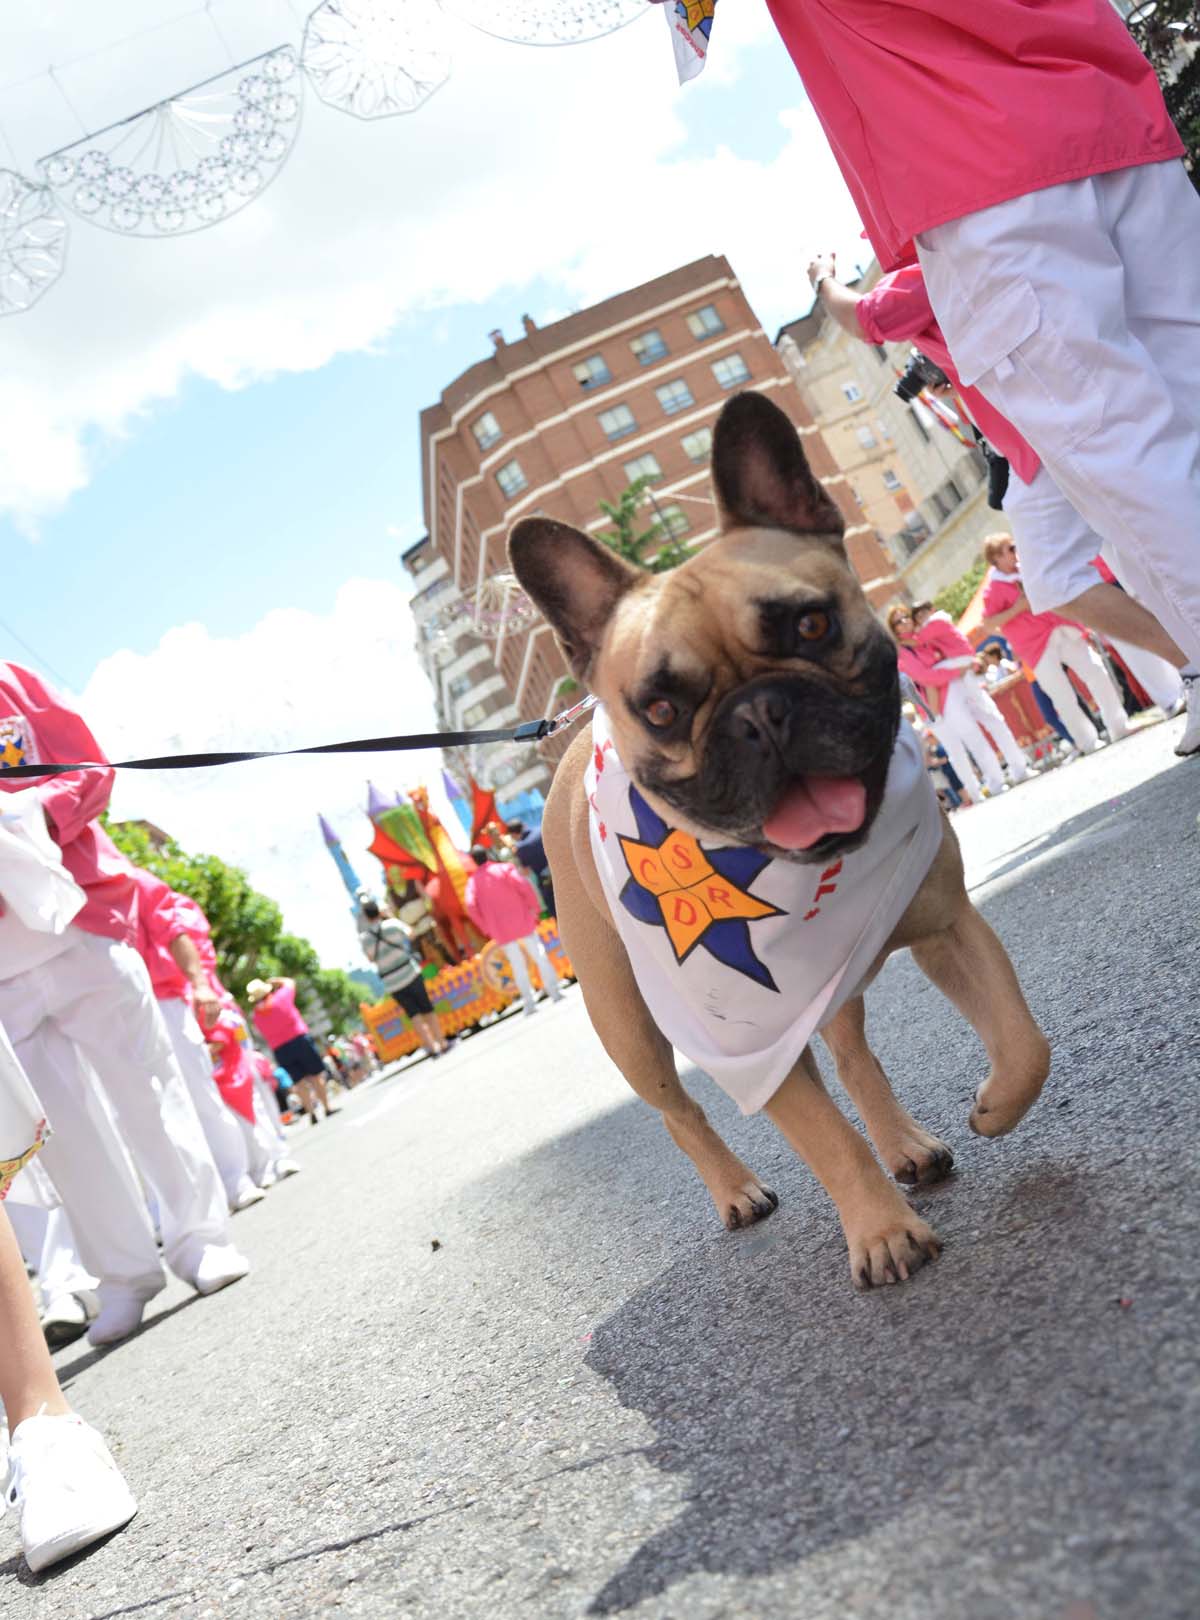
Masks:
[[[113,1155],[112,1126],[104,1124],[79,1053],[99,1076],[157,1199],[170,1268],[199,1293],[214,1293],[249,1267],[230,1243],[223,1189],[134,948],[138,889],[130,865],[96,821],[109,804],[112,771],[5,781],[8,766],[74,760],[104,760],[79,714],[31,671],[0,663],[0,792],[36,786],[63,867],[84,893],[49,959],[26,953],[5,964],[0,949],[0,1024],[53,1116],[57,1147],[45,1165],[83,1260],[100,1278],[102,1309],[89,1338],[109,1343],[138,1327],[164,1278],[152,1236],[146,1252],[144,1210],[139,1228],[120,1197],[121,1155]]]

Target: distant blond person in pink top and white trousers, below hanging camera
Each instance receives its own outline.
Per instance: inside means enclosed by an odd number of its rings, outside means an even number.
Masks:
[[[1075,698],[1067,669],[1070,669],[1095,698],[1109,742],[1119,742],[1129,734],[1126,706],[1117,684],[1109,676],[1100,654],[1083,633],[1083,625],[1056,612],[1033,612],[1020,578],[1017,548],[1011,535],[991,535],[983,543],[988,575],[983,585],[983,625],[986,632],[999,632],[1017,658],[1033,671],[1033,679],[1046,693],[1067,727],[1070,740],[1082,753],[1095,753],[1103,744],[1096,727],[1087,718]],[[1116,586],[1109,586],[1116,590]],[[1066,669],[1064,669],[1066,666]]]

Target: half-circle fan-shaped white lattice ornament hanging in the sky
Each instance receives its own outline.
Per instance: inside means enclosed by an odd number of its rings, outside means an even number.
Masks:
[[[120,123],[39,167],[74,214],[125,237],[217,225],[264,191],[300,128],[296,52],[280,45]]]

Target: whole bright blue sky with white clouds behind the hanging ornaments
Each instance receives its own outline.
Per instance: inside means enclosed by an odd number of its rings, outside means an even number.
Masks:
[[[215,8],[246,57],[277,44],[279,0]],[[128,32],[162,8],[118,10]],[[146,105],[211,71],[193,34],[178,60],[170,28],[154,40],[154,63],[134,40],[76,75],[110,102],[130,75],[128,105]],[[453,50],[410,118],[363,125],[309,94],[280,178],[214,230],[143,243],[78,224],[62,282],[0,324],[0,620],[36,650],[3,638],[0,656],[74,693],[113,757],[428,729],[398,565],[421,533],[418,413],[487,332],[706,253],[774,330],[810,303],[811,251],[863,256],[761,0],[724,0],[683,89],[656,11],[570,50],[462,28]],[[18,159],[50,149],[3,89],[0,120]],[[390,781],[434,768],[395,761]],[[361,849],[364,776],[128,778],[115,810],[245,865],[290,927],[353,962],[314,820],[340,815]]]

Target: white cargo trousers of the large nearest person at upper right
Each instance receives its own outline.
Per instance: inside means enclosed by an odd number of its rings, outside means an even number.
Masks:
[[[1198,659],[1200,198],[1182,164],[1030,191],[921,232],[917,251],[962,381]],[[1053,557],[1032,561],[1054,578]]]

